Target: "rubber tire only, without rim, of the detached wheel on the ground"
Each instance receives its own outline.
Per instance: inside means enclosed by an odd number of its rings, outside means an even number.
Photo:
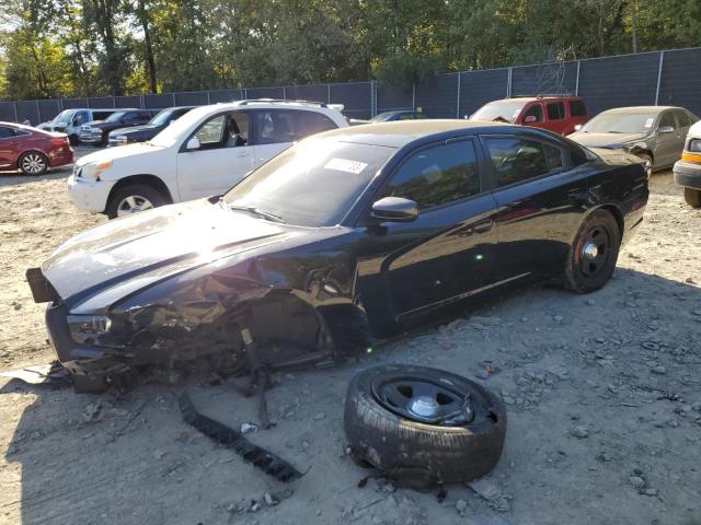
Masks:
[[[380,405],[372,393],[378,380],[398,372],[452,382],[471,393],[475,418],[461,427],[404,419]],[[383,365],[358,373],[348,385],[344,427],[356,464],[369,463],[400,485],[428,488],[484,476],[502,455],[506,411],[483,386],[449,372],[413,365]]]

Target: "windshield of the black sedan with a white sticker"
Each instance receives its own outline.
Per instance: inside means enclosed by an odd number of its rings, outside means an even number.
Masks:
[[[310,139],[234,186],[228,206],[255,208],[289,224],[333,226],[350,210],[394,148]]]

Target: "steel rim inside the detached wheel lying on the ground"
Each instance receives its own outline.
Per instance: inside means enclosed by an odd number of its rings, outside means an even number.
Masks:
[[[470,393],[426,377],[401,376],[377,381],[376,400],[387,410],[410,421],[462,427],[474,420]]]

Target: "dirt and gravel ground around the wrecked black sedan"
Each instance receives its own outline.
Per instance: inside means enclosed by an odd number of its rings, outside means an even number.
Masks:
[[[0,176],[0,370],[53,358],[25,268],[104,221],[71,207],[67,175]],[[0,522],[701,524],[701,212],[670,173],[652,188],[601,291],[525,290],[359,361],[278,375],[277,424],[250,436],[307,471],[289,486],[183,423],[182,385],[119,397],[0,378]],[[386,362],[446,368],[502,395],[506,445],[491,475],[444,501],[382,480],[357,488],[367,471],[344,452],[345,388]],[[207,413],[255,421],[255,401],[231,386],[191,385]]]

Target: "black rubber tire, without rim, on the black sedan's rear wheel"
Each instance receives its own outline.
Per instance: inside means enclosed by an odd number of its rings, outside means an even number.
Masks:
[[[586,276],[579,267],[579,258],[582,257],[583,243],[587,234],[594,228],[604,228],[611,238],[610,254],[606,265],[595,276]],[[589,293],[599,290],[613,275],[618,254],[621,247],[621,230],[616,218],[607,210],[596,210],[584,221],[574,243],[570,246],[567,258],[565,260],[565,285],[573,292]]]

